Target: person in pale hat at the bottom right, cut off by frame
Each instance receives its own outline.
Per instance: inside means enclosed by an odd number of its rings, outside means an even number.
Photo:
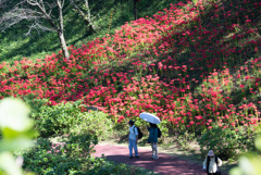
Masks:
[[[222,165],[222,161],[214,154],[213,150],[209,150],[208,155],[203,161],[203,170],[208,175],[221,175],[217,166]]]

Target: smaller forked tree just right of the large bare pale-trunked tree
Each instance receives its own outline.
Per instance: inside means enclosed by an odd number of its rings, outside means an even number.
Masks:
[[[84,18],[90,33],[96,32],[96,26],[92,23],[88,0],[71,0],[75,11]]]

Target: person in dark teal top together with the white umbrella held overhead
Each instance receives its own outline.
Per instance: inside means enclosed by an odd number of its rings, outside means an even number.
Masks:
[[[148,142],[151,143],[151,148],[152,148],[152,159],[157,160],[159,159],[158,157],[158,133],[159,133],[159,128],[157,126],[157,124],[160,124],[160,118],[151,113],[140,113],[139,117],[142,118],[146,122],[149,122],[150,127],[147,127],[149,130],[149,138],[148,138]]]

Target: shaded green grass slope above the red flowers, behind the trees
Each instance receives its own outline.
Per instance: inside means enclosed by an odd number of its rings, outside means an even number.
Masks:
[[[152,16],[158,11],[167,8],[170,3],[177,0],[150,1],[142,0],[137,3],[138,17]],[[110,18],[112,21],[109,34],[113,34],[125,22],[134,20],[133,0],[89,0],[91,14],[96,17],[94,23],[98,26],[95,34],[88,32],[84,21],[72,10],[64,13],[64,28],[67,47],[80,47],[89,40],[103,37],[108,34]],[[113,13],[111,13],[113,11]],[[23,58],[30,60],[45,59],[47,54],[58,53],[61,50],[55,33],[50,32],[28,32],[29,22],[23,21],[17,25],[0,33],[0,62],[20,61]]]

